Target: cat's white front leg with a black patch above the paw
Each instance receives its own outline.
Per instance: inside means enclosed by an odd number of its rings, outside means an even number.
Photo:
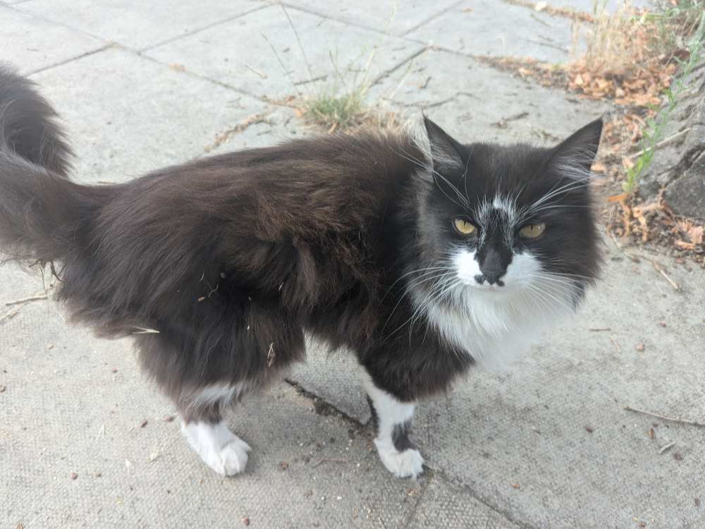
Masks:
[[[403,402],[377,387],[367,371],[363,374],[367,402],[376,430],[374,445],[387,470],[398,478],[415,478],[423,472],[424,458],[409,439],[414,404]]]

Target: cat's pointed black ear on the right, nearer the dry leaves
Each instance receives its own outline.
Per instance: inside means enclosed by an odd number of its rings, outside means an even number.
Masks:
[[[551,166],[568,178],[585,178],[595,161],[602,135],[602,118],[581,128],[553,147]]]

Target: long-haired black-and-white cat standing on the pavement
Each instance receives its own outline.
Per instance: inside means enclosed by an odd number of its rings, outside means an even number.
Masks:
[[[4,68],[0,248],[51,267],[73,322],[133,336],[217,473],[250,451],[223,408],[304,360],[307,333],[356,356],[379,457],[416,477],[415,403],[525,351],[596,281],[601,129],[465,145],[424,117],[85,186],[54,109]]]

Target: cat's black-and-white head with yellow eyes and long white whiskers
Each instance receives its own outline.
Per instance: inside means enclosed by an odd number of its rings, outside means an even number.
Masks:
[[[589,186],[602,120],[553,148],[463,145],[429,119],[424,128],[419,251],[437,267],[439,299],[446,288],[575,307],[599,269]]]

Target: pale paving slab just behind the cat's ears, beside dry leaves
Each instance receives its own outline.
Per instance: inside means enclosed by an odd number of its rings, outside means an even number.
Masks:
[[[427,50],[398,68],[369,90],[369,101],[408,117],[423,110],[463,142],[551,143],[607,109],[443,50]]]

